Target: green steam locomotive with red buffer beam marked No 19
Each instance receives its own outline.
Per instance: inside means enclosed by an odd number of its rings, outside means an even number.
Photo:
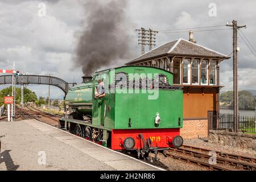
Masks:
[[[67,93],[61,129],[144,158],[183,144],[183,90],[172,73],[129,65],[83,78]]]

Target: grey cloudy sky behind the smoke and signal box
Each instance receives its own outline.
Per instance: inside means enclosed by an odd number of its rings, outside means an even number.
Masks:
[[[52,75],[68,82],[81,82],[82,68],[74,64],[79,35],[86,28],[86,0],[19,1],[0,0],[0,69],[17,69],[27,74]],[[108,3],[108,1],[97,1]],[[43,4],[42,4],[43,3]],[[209,15],[210,3],[216,5],[216,14]],[[42,7],[46,5],[45,14]],[[256,47],[256,1],[170,1],[138,0],[123,3],[123,27],[129,35],[130,57],[109,67],[122,65],[141,53],[136,28],[173,30],[180,28],[219,26],[236,19],[238,25],[247,25],[242,32]],[[93,7],[90,7],[93,8]],[[115,7],[113,7],[114,9]],[[42,13],[43,12],[43,13]],[[210,11],[212,12],[212,11]],[[108,17],[105,17],[108,19]],[[204,28],[205,30],[209,28]],[[193,30],[193,29],[192,29]],[[198,44],[230,55],[232,30],[196,31]],[[156,46],[178,38],[188,39],[188,32],[174,31],[156,36]],[[245,39],[245,38],[243,38]],[[114,43],[113,43],[114,44]],[[249,44],[249,43],[247,43]],[[239,89],[256,90],[256,57],[238,35]],[[253,48],[251,48],[252,51]],[[256,52],[254,52],[256,55]],[[232,58],[221,63],[223,90],[232,90]],[[6,87],[1,86],[1,88]],[[0,88],[0,89],[1,89]],[[28,86],[38,96],[47,96],[48,86]],[[52,98],[63,98],[64,93],[51,86]]]

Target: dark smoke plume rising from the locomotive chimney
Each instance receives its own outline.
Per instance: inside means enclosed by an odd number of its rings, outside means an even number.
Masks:
[[[76,49],[76,66],[85,75],[122,60],[129,50],[125,1],[86,1],[86,27]]]

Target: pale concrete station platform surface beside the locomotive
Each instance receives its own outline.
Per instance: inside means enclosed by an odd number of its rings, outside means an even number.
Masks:
[[[34,119],[0,122],[0,170],[161,170]]]

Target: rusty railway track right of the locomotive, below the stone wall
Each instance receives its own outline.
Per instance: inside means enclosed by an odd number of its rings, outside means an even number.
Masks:
[[[184,145],[180,148],[170,148],[164,154],[173,159],[207,167],[210,170],[256,170],[255,158],[212,151],[205,148]],[[209,162],[212,159],[214,164]]]

